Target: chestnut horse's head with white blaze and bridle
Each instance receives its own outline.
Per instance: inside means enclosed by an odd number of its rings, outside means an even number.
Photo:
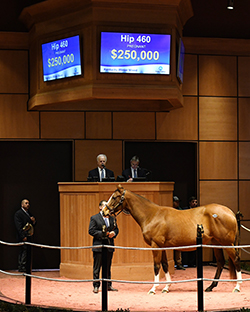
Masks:
[[[119,184],[115,192],[109,198],[106,206],[103,208],[103,214],[115,214],[119,210],[123,210],[123,202],[125,199],[125,192],[124,188]]]

